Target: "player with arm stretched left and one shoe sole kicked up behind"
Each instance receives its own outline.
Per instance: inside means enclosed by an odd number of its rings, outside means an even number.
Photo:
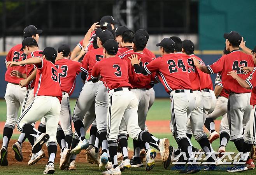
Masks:
[[[34,39],[31,41],[35,42]],[[22,46],[21,50],[28,46]],[[34,57],[19,62],[7,62],[7,66],[19,66],[34,64],[37,67],[37,77],[35,81],[35,100],[21,114],[17,128],[28,137],[33,145],[32,152],[37,153],[44,143],[47,143],[49,161],[44,170],[44,174],[54,173],[54,159],[57,152],[56,132],[60,115],[60,101],[62,98],[58,70],[54,66],[57,51],[53,47],[46,47],[42,52],[42,58]],[[46,134],[40,133],[31,124],[44,116],[46,118]],[[30,136],[35,137],[30,139]]]

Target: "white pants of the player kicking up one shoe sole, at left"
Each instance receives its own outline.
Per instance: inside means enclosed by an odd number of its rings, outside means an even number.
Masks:
[[[46,145],[49,142],[57,144],[56,134],[60,117],[60,100],[56,97],[36,96],[30,106],[19,117],[18,130],[21,131],[26,123],[32,124],[42,119],[42,116],[46,120],[46,133],[50,136]]]

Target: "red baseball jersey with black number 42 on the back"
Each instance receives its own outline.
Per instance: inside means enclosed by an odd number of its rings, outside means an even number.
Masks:
[[[249,75],[241,69],[241,66],[254,67],[254,62],[251,55],[245,54],[240,50],[234,50],[230,54],[222,56],[212,65],[208,65],[210,73],[221,72],[223,88],[228,92],[233,93],[250,93],[250,89],[245,89],[239,85],[237,80],[227,75],[230,71],[237,72],[238,76],[246,79]]]

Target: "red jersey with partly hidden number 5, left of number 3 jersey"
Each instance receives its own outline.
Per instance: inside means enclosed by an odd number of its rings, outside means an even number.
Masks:
[[[87,73],[85,82],[91,79],[91,70],[93,70],[93,66],[103,58],[103,47],[89,51],[84,55],[81,70]]]

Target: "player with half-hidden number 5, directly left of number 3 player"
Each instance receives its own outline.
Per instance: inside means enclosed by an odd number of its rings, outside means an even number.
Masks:
[[[98,49],[94,49],[85,54],[84,59],[82,60],[82,75],[84,75],[85,84],[82,88],[82,91],[77,99],[77,103],[74,108],[73,113],[73,122],[75,131],[79,136],[80,142],[72,150],[72,153],[79,153],[81,149],[88,148],[87,140],[84,137],[84,124],[82,120],[84,119],[84,115],[91,108],[92,105],[95,106],[95,114],[96,114],[96,125],[98,132],[100,133],[100,145],[102,145],[102,155],[101,155],[101,163],[106,164],[108,162],[107,156],[107,106],[109,96],[107,94],[107,89],[105,89],[103,82],[99,81],[96,84],[92,83],[91,79],[91,70],[96,62],[103,59],[103,44],[108,39],[113,39],[113,35],[108,30],[102,30],[98,28],[96,30],[97,35],[97,43]],[[85,78],[86,77],[86,78]],[[93,158],[95,158],[95,149],[91,149],[88,151]],[[99,149],[98,149],[99,150]],[[97,149],[96,149],[97,151]],[[95,158],[96,159],[96,158]],[[101,166],[105,166],[100,164]]]

